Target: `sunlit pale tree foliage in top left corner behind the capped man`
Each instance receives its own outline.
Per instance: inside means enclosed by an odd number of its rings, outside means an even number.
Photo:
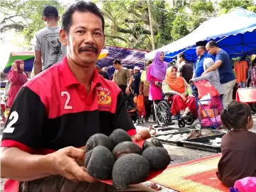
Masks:
[[[55,6],[60,15],[65,9],[65,6],[60,4],[57,0],[2,1],[1,13],[4,15],[4,18],[1,21],[1,33],[15,30],[16,33],[22,33],[26,38],[26,44],[29,44],[35,32],[45,27],[42,21],[42,12],[44,6],[49,4]]]

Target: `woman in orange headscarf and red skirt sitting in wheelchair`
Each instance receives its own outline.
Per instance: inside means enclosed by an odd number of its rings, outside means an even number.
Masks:
[[[181,115],[181,119],[188,120],[192,113],[196,116],[196,104],[193,91],[183,77],[177,77],[177,68],[169,67],[165,80],[162,82],[162,91],[174,94],[172,97],[171,113]]]

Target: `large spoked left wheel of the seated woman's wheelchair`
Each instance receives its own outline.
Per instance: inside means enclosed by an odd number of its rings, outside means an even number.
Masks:
[[[169,105],[165,101],[160,101],[157,105],[157,122],[159,125],[167,126],[171,120],[171,113],[169,111]]]

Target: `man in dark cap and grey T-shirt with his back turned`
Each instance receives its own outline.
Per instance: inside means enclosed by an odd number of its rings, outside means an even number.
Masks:
[[[60,27],[57,26],[60,17],[57,9],[54,6],[45,6],[42,20],[46,27],[36,32],[34,36],[34,75],[39,74],[52,64],[61,62],[67,52],[66,47],[60,43]]]

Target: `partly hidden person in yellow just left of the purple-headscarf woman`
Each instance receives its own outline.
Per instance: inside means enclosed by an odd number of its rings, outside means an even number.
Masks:
[[[145,105],[145,122],[148,122],[148,118],[150,118],[151,113],[151,107],[152,107],[152,101],[148,99],[149,92],[150,92],[150,83],[147,81],[147,72],[148,67],[150,67],[150,64],[152,64],[152,60],[148,60],[145,63],[145,70],[142,72],[140,77],[140,95],[144,96],[144,105]]]

